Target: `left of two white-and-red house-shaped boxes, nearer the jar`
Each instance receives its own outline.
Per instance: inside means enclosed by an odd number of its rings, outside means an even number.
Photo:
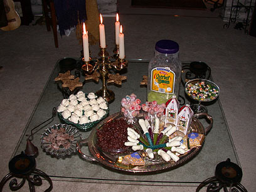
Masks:
[[[169,124],[176,125],[178,113],[179,113],[179,101],[176,99],[176,96],[174,95],[172,99],[166,102],[165,127],[168,127]]]

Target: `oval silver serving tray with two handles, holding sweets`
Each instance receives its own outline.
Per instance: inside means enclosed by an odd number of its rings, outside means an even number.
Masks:
[[[205,117],[206,119],[208,119],[210,121],[210,124],[208,125],[208,127],[206,128],[203,127],[201,122],[197,119],[198,117]],[[107,119],[104,119],[102,122],[100,122],[96,127],[92,129],[92,132],[90,133],[90,136],[87,139],[83,139],[77,142],[77,151],[79,152],[79,155],[82,157],[82,159],[85,159],[87,161],[97,162],[109,168],[117,169],[120,171],[128,171],[132,173],[143,173],[143,172],[161,171],[165,169],[173,169],[178,166],[181,166],[182,164],[188,162],[193,157],[195,157],[196,154],[200,152],[201,147],[203,147],[203,144],[198,147],[193,147],[189,152],[186,152],[185,154],[179,156],[179,161],[177,162],[173,160],[166,162],[163,159],[158,159],[157,161],[147,161],[144,166],[132,166],[132,167],[122,166],[116,163],[117,158],[119,156],[131,154],[132,152],[134,152],[132,151],[132,149],[131,151],[126,152],[126,154],[120,155],[120,154],[110,154],[110,153],[104,152],[97,146],[97,130],[101,129],[106,122],[114,119],[119,119],[119,118],[123,118],[120,112],[114,115],[110,115],[109,117],[107,117]],[[213,119],[210,115],[206,113],[196,114],[194,115],[191,121],[189,132],[197,132],[199,134],[206,135],[210,131],[212,125],[213,125]],[[88,149],[92,154],[92,156],[88,156],[82,152],[81,147],[83,145],[88,146]]]

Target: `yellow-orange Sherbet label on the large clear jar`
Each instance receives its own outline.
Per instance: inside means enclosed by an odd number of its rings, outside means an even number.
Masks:
[[[175,73],[169,67],[151,70],[151,90],[159,93],[174,93]]]

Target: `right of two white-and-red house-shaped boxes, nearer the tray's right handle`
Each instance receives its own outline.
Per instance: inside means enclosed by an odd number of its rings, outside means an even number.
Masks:
[[[186,136],[187,131],[189,130],[193,114],[194,112],[189,105],[185,105],[179,110],[176,127],[178,131],[183,132],[184,136]]]

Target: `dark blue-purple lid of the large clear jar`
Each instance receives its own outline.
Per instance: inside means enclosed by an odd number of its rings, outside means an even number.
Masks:
[[[173,54],[179,51],[179,45],[172,40],[160,40],[156,42],[155,49],[159,53]]]

